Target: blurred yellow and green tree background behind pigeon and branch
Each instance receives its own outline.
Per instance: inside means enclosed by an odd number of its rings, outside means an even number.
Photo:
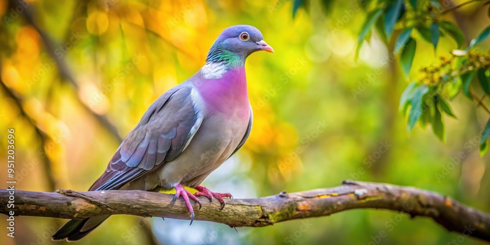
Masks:
[[[248,24],[275,54],[247,59],[252,133],[204,185],[253,198],[344,179],[386,182],[488,213],[489,155],[486,138],[480,141],[489,112],[477,101],[490,102],[490,42],[471,40],[485,37],[489,5],[2,0],[0,157],[6,158],[7,128],[14,128],[16,189],[87,190],[153,100],[202,67],[221,30]],[[473,68],[460,71],[464,64]],[[0,172],[4,181],[6,164]],[[2,229],[2,244],[51,244],[65,222],[16,221],[16,238]],[[382,232],[386,237],[378,239]],[[112,216],[80,241],[102,243],[483,244],[429,219],[377,210],[238,233],[211,222]]]

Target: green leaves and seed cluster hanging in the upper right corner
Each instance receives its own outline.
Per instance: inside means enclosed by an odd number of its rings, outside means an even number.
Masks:
[[[479,87],[485,96],[490,95],[490,51],[485,54],[474,50],[490,36],[490,25],[472,39],[465,50],[461,50],[465,46],[465,35],[453,22],[443,19],[443,14],[449,10],[444,10],[437,0],[380,0],[370,5],[374,7],[367,9],[366,20],[359,31],[356,57],[364,40],[370,37],[372,29],[375,29],[387,43],[392,40],[393,33],[399,32],[393,53],[399,53],[401,69],[408,78],[416,57],[417,42],[425,41],[432,44],[434,53],[441,37],[450,37],[456,42],[457,49],[452,51],[451,58],[441,57],[439,65],[422,68],[422,78],[412,81],[400,98],[400,110],[407,117],[408,131],[411,131],[417,122],[423,127],[431,124],[434,134],[443,141],[442,114],[456,118],[446,98],[452,99],[462,91],[467,98],[477,99],[478,103],[482,104],[473,91],[474,77],[477,77]],[[490,17],[490,1],[483,5],[489,5]],[[417,35],[413,35],[414,29],[422,40],[417,40]],[[490,114],[490,110],[486,110]],[[490,125],[487,123],[481,137],[479,149],[482,155],[488,150],[489,128]]]

